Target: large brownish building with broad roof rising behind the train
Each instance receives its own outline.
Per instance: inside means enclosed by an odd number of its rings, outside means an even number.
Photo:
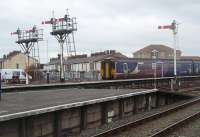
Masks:
[[[155,52],[155,53],[154,53]],[[165,45],[149,45],[133,53],[134,58],[152,59],[154,56],[158,59],[173,59],[174,49]],[[180,59],[181,51],[176,50],[176,57]]]

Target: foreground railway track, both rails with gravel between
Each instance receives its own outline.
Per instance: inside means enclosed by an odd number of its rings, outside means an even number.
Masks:
[[[158,112],[151,116],[120,125],[93,137],[160,137],[191,119],[200,117],[200,98]]]

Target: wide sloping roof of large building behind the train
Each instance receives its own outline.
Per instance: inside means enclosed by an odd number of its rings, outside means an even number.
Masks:
[[[149,51],[152,51],[152,50],[158,50],[158,51],[164,51],[164,52],[167,52],[167,51],[168,51],[168,52],[173,52],[173,51],[174,51],[173,48],[168,47],[168,46],[166,46],[166,45],[162,45],[162,44],[151,44],[151,45],[148,45],[148,46],[146,46],[146,47],[144,47],[144,48],[142,48],[142,49],[140,49],[140,50],[134,52],[134,54],[135,54],[135,53],[138,53],[138,52],[149,52]],[[180,50],[177,50],[177,53],[181,53],[181,51],[180,51]]]

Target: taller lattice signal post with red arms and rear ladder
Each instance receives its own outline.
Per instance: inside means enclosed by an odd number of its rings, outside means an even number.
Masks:
[[[77,23],[75,17],[70,17],[69,14],[65,14],[63,18],[51,18],[49,21],[43,21],[42,24],[51,24],[51,35],[55,36],[60,44],[60,81],[64,82],[64,43],[67,45],[67,55],[76,55],[74,32],[77,31]]]

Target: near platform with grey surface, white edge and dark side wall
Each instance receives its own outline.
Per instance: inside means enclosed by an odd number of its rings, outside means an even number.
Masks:
[[[48,89],[3,93],[0,137],[62,137],[188,98],[157,89]]]

